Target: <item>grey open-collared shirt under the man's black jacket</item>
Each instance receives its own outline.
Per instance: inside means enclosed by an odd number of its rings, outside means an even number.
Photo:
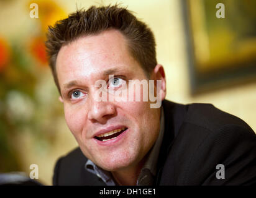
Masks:
[[[163,114],[163,107],[161,108],[161,118],[160,118],[160,132],[158,138],[150,150],[149,157],[147,158],[145,165],[140,171],[139,178],[137,180],[137,186],[152,186],[155,176],[157,174],[157,160],[160,152],[160,147],[163,141],[163,133],[165,131],[165,118]],[[107,186],[118,185],[112,178],[112,174],[109,171],[99,168],[95,165],[93,161],[88,160],[85,163],[85,169],[90,173],[96,174],[101,178]]]

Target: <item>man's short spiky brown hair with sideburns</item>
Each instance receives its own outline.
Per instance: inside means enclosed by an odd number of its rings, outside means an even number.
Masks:
[[[78,10],[70,14],[68,18],[56,22],[53,27],[48,27],[45,46],[48,62],[59,92],[56,60],[60,48],[80,37],[96,35],[110,28],[119,30],[125,36],[131,55],[139,62],[149,77],[150,72],[157,65],[155,38],[150,28],[144,22],[137,20],[124,7],[118,5],[91,6],[87,11]]]

